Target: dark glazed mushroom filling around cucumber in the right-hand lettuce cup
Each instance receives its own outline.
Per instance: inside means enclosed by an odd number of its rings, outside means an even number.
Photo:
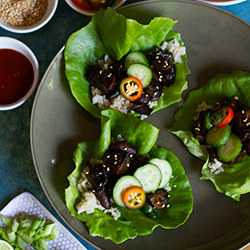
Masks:
[[[213,161],[214,159],[221,160],[218,158],[216,147],[206,143],[205,138],[208,130],[205,128],[205,117],[221,110],[223,107],[231,107],[234,111],[234,117],[228,125],[231,127],[232,133],[237,135],[242,142],[241,153],[248,156],[250,155],[250,108],[240,107],[237,98],[224,98],[222,101],[216,103],[213,108],[201,111],[197,121],[193,125],[192,133],[199,143],[206,147],[210,161]],[[230,164],[235,162],[235,160],[236,159],[233,159],[232,161],[224,163]]]

